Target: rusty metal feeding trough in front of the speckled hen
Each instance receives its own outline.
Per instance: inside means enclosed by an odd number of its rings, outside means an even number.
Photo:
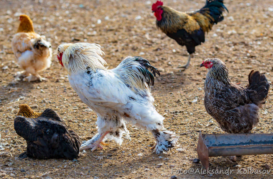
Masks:
[[[208,157],[273,154],[273,134],[201,134],[200,131],[197,154],[206,169]]]

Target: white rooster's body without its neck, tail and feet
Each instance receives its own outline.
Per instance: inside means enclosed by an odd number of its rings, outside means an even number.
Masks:
[[[146,131],[163,127],[164,118],[153,107],[151,93],[147,90],[135,93],[112,71],[73,73],[69,75],[69,83],[81,100],[97,113],[99,132],[110,129],[109,134],[119,130],[129,134],[124,119]],[[121,135],[114,139],[121,144]]]

